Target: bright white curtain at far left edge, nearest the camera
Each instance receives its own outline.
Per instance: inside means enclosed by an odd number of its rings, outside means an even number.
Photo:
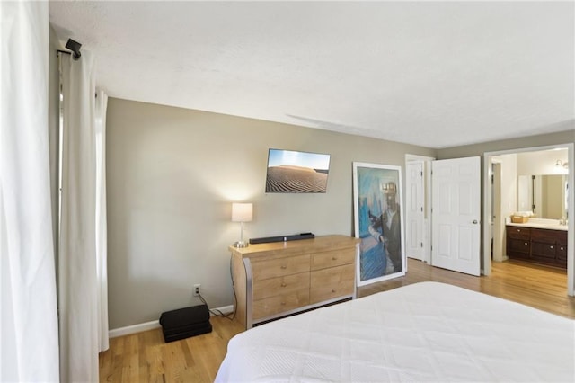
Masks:
[[[0,380],[57,382],[47,2],[0,2]]]

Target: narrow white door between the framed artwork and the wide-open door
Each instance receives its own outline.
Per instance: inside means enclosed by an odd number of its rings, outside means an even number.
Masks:
[[[423,260],[423,162],[409,162],[407,173],[407,227],[405,251],[407,256]]]

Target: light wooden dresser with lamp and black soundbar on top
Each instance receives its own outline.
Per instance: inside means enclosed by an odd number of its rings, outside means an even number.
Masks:
[[[356,297],[358,239],[317,236],[288,242],[229,246],[237,299],[246,328],[341,299]]]

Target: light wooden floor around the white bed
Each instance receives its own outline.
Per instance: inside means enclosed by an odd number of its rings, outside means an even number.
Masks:
[[[446,282],[575,319],[567,272],[517,261],[493,263],[491,276],[473,277],[410,259],[405,277],[364,286],[358,297],[420,281]],[[212,333],[172,343],[164,343],[161,329],[112,338],[100,354],[100,381],[213,382],[227,342],[243,328],[223,317],[210,321]]]

